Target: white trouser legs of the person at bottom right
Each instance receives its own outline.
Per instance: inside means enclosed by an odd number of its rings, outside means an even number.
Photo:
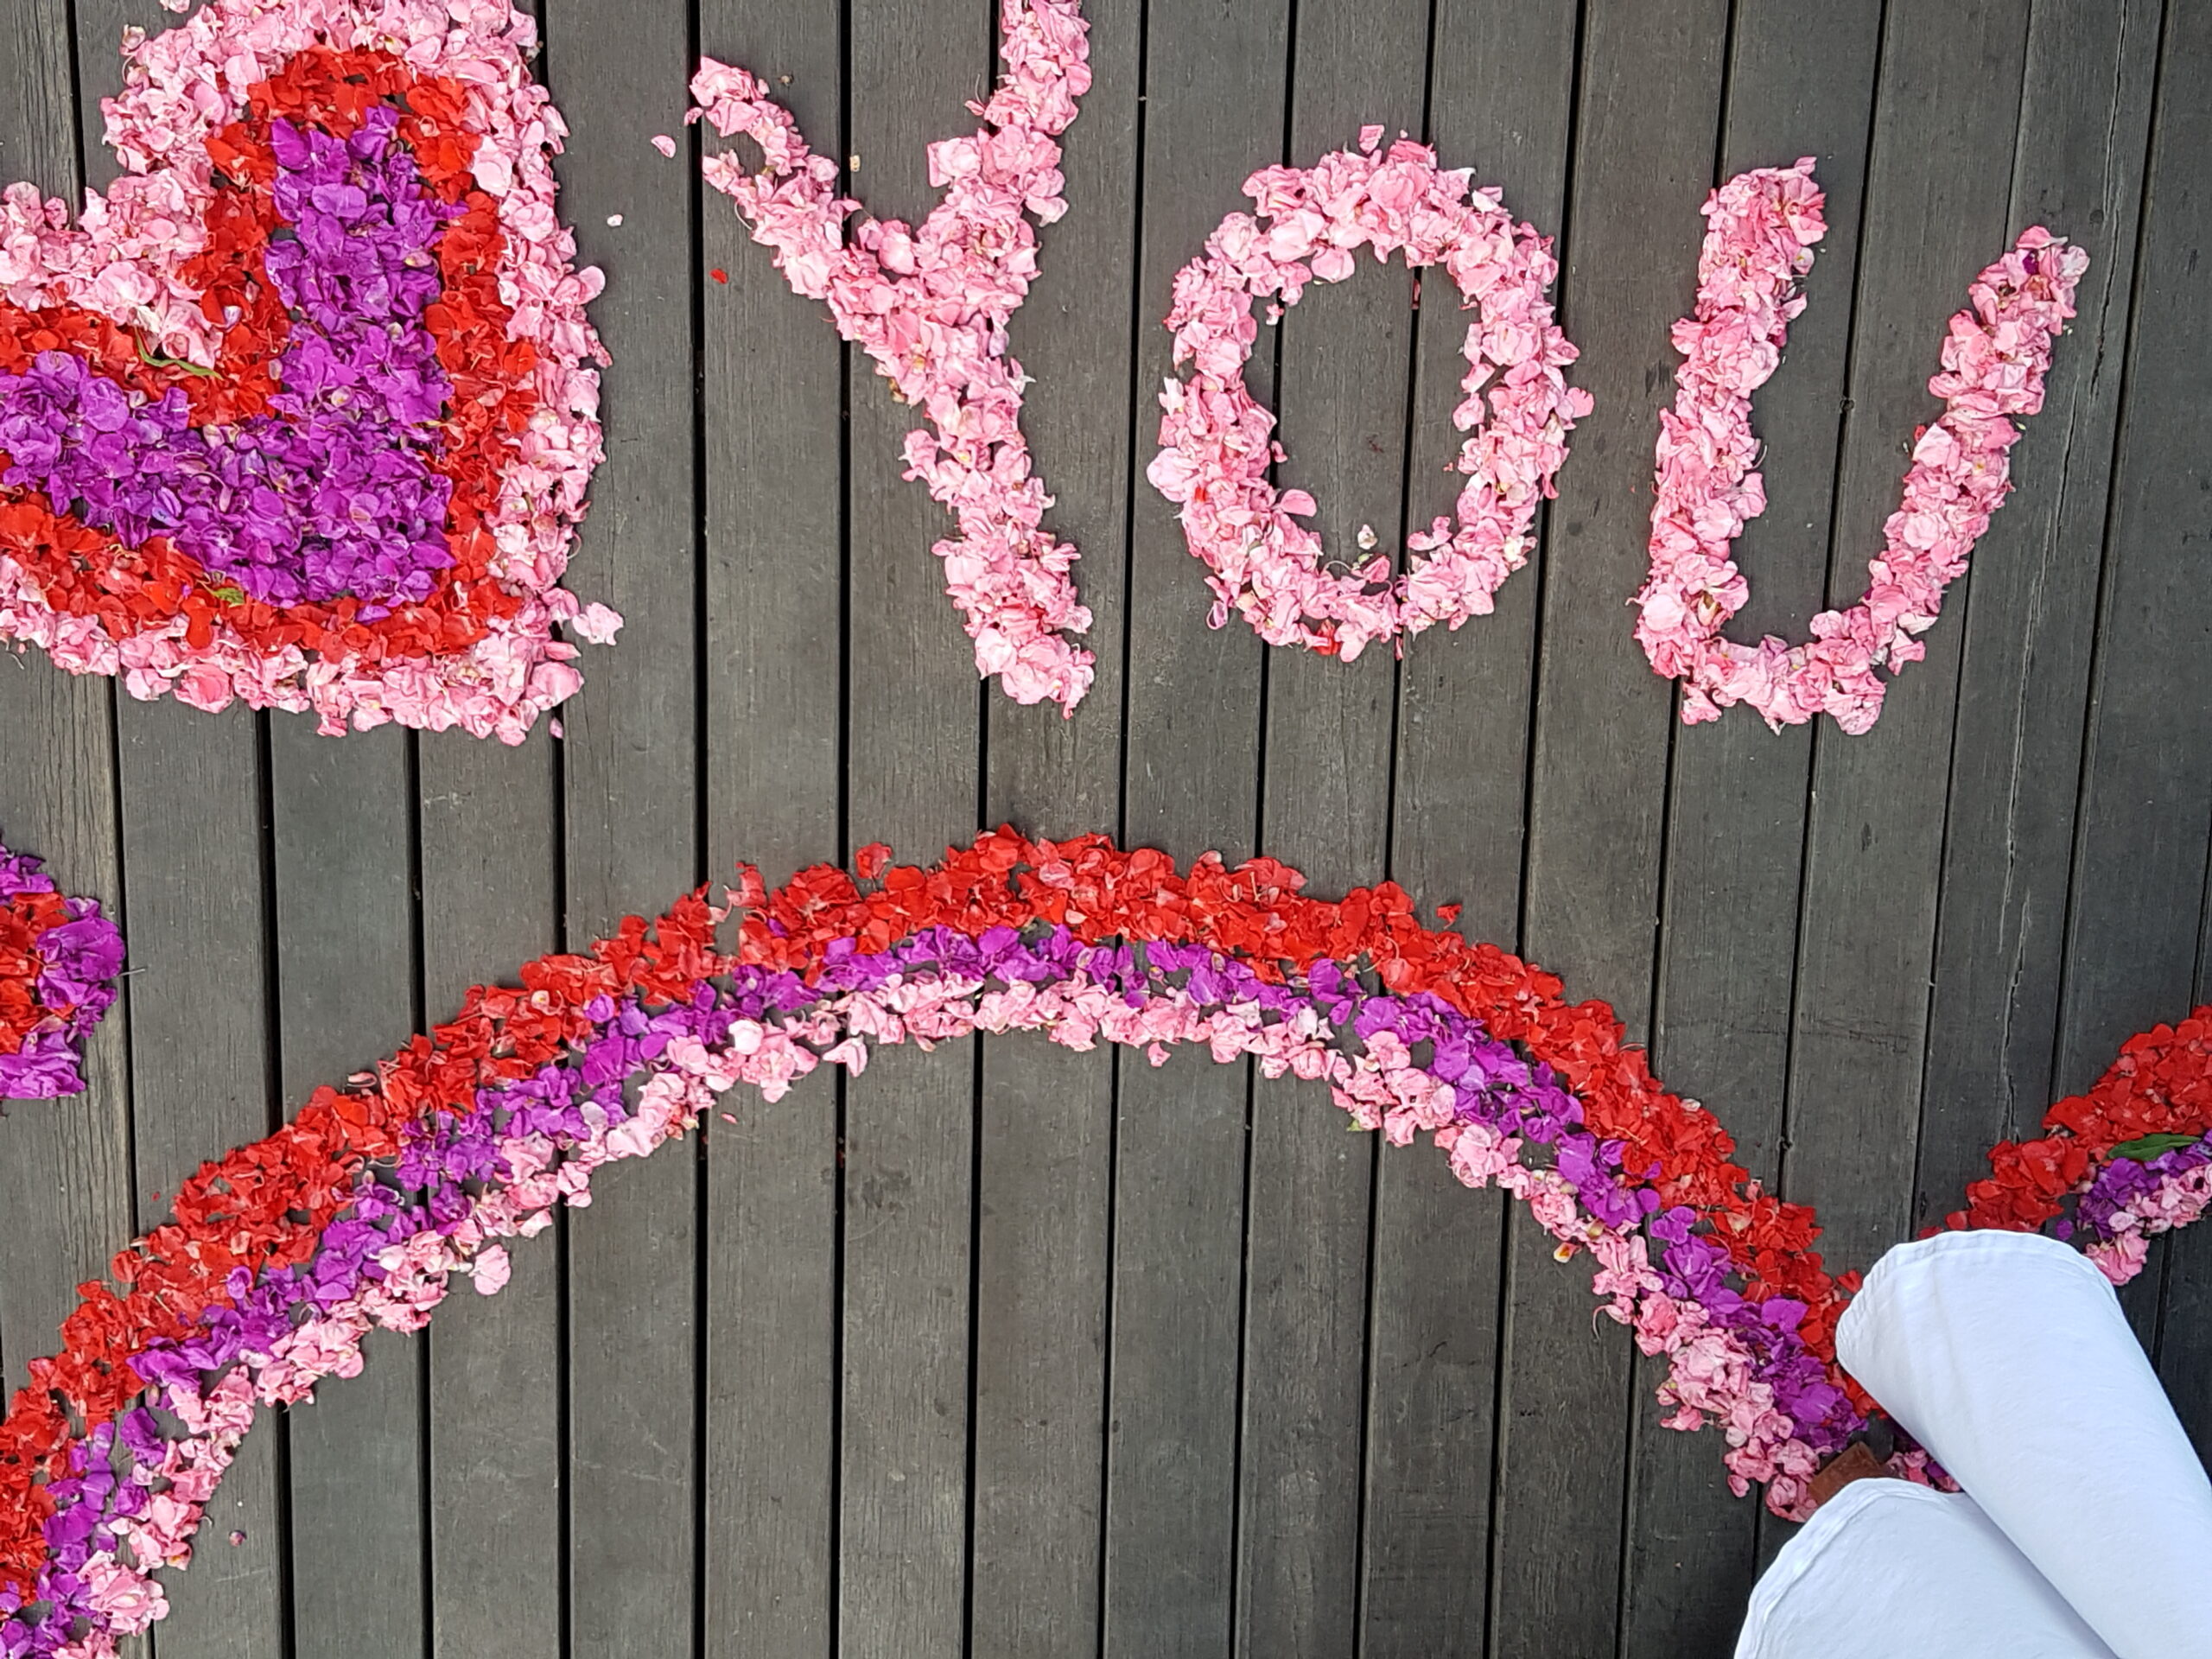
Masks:
[[[1845,1486],[1759,1579],[1736,1659],[2212,1659],[2212,1482],[2086,1256],[1900,1245],[1836,1352],[1964,1493]]]

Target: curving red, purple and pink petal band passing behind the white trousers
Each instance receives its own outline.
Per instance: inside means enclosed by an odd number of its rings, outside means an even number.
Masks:
[[[1520,1197],[1562,1261],[1588,1254],[1601,1310],[1668,1360],[1666,1422],[1717,1422],[1730,1482],[1767,1482],[1778,1513],[1805,1513],[1807,1475],[1865,1427],[1834,1365],[1856,1279],[1823,1270],[1812,1212],[1732,1161],[1604,1002],[1425,927],[1398,887],[1332,902],[1270,858],[1177,869],[1011,830],[927,869],[867,847],[854,869],[776,891],[745,872],[730,907],[692,894],[538,958],[520,989],[473,989],[372,1075],[201,1166],[113,1283],[82,1287],[62,1354],[31,1363],[0,1425],[0,1652],[104,1655],[161,1617],[153,1571],[188,1559],[254,1407],[352,1376],[365,1332],[420,1327],[456,1274],[495,1292],[507,1241],[588,1203],[597,1166],[653,1152],[737,1084],[779,1099],[821,1066],[863,1071],[874,1044],[978,1031],[1250,1057],[1325,1082],[1394,1144],[1427,1137],[1467,1186]],[[2132,1042],[2115,1077],[2053,1108],[2075,1126],[2070,1192],[2108,1190],[2130,1161],[2112,1137],[2146,1124],[2201,1144],[2212,1009]],[[1984,1188],[1975,1206],[1960,1223],[2033,1225]],[[2081,1197],[2084,1217],[2099,1206]],[[2141,1225],[2183,1219],[2168,1203]],[[1940,1475],[1916,1451],[1898,1469]]]

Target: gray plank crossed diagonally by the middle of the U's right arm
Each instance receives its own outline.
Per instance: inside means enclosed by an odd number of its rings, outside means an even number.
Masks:
[[[1905,447],[1938,405],[1944,323],[2004,252],[2028,7],[1891,13],[1882,40],[1867,239],[1851,345],[1851,414],[1829,602],[1854,604],[1896,511]],[[1938,66],[1938,58],[1944,66]],[[2020,560],[2000,513],[1975,564]],[[1973,577],[1964,577],[1971,586]],[[1865,737],[1814,734],[1798,989],[1790,1062],[1787,1197],[1814,1203],[1836,1267],[1909,1237],[1927,1053],[1936,885],[1969,586],[1900,672]]]

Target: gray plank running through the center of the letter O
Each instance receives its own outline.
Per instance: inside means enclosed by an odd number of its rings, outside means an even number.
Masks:
[[[1369,122],[1387,139],[1422,131],[1429,15],[1427,0],[1294,13],[1292,166],[1352,146]],[[1429,279],[1436,294],[1438,272]],[[1402,261],[1363,259],[1345,283],[1314,283],[1279,334],[1261,330],[1256,349],[1276,349],[1276,436],[1290,453],[1279,484],[1321,502],[1312,526],[1332,560],[1363,557],[1363,524],[1380,549],[1402,544],[1411,285]],[[1455,644],[1422,637],[1411,650]],[[1387,644],[1349,664],[1267,655],[1261,849],[1301,867],[1314,891],[1385,874],[1396,670]],[[1325,1084],[1256,1086],[1237,1493],[1245,1652],[1340,1655],[1358,1641],[1374,1168],[1376,1137],[1345,1133]]]

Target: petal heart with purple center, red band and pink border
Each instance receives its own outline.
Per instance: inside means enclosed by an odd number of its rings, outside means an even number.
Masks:
[[[409,44],[400,44],[409,42]],[[212,0],[126,173],[0,195],[0,639],[142,699],[520,741],[602,456],[564,128],[504,0]]]

